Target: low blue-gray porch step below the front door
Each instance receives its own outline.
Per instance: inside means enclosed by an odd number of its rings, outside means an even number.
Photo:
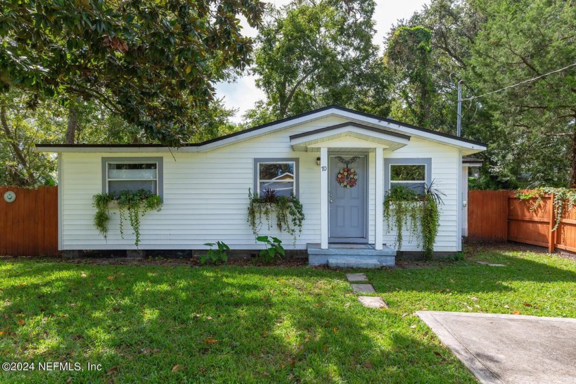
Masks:
[[[381,250],[372,244],[329,243],[323,249],[320,244],[308,244],[310,265],[328,265],[331,268],[379,268],[393,267],[396,250],[383,245]]]

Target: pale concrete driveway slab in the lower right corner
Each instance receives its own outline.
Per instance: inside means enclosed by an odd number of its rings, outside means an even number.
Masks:
[[[481,383],[576,383],[576,319],[416,314]]]

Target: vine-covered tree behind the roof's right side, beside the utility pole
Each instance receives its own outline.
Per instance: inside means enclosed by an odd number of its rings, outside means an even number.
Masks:
[[[474,1],[433,0],[392,29],[385,57],[393,73],[393,117],[456,133],[457,83],[465,77],[484,21]],[[485,119],[474,104],[464,105],[464,127],[483,125]],[[478,139],[475,130],[463,134]]]

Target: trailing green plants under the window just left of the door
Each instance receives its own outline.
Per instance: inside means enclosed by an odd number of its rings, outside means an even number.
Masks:
[[[254,236],[258,236],[263,221],[266,221],[268,230],[272,230],[272,213],[276,214],[276,227],[292,235],[296,244],[296,237],[302,233],[304,210],[302,203],[294,195],[291,197],[278,196],[273,189],[267,189],[263,196],[252,193],[248,189],[248,224]]]

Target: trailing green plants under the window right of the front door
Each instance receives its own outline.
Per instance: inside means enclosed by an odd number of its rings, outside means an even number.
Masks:
[[[416,193],[407,187],[395,187],[384,198],[384,219],[387,229],[392,229],[392,217],[396,228],[396,245],[402,250],[403,229],[410,225],[410,238],[422,240],[422,251],[426,259],[431,259],[434,243],[440,226],[438,205],[444,193],[433,187],[433,182],[424,188],[423,193]],[[420,232],[421,230],[421,232]],[[421,236],[418,236],[421,235]],[[420,243],[418,243],[420,246]]]

